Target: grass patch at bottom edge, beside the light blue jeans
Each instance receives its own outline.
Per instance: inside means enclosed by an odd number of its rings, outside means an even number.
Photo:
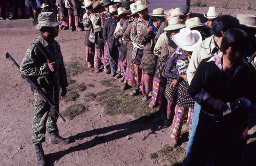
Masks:
[[[159,162],[168,161],[170,164],[180,164],[186,156],[186,151],[181,147],[170,147],[164,145],[157,152],[148,155],[151,159],[158,159]]]

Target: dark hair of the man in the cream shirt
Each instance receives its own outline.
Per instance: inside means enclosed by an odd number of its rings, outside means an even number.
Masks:
[[[239,20],[231,15],[225,14],[217,17],[212,25],[212,32],[217,37],[222,37],[222,31],[225,33],[230,28],[238,28]]]

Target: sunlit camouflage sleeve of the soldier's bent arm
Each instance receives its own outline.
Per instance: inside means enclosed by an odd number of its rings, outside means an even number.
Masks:
[[[28,76],[48,76],[50,69],[47,63],[38,62],[40,54],[35,44],[31,44],[23,58],[22,64],[20,65],[20,72]]]

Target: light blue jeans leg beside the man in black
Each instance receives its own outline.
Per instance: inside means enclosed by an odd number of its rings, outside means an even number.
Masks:
[[[193,115],[192,126],[191,126],[192,131],[190,132],[190,138],[189,138],[189,141],[188,141],[188,144],[187,144],[187,151],[186,151],[187,158],[189,158],[191,156],[191,147],[193,145],[194,136],[195,136],[196,129],[197,129],[200,109],[201,109],[201,105],[199,105],[197,102],[195,102],[194,115]]]

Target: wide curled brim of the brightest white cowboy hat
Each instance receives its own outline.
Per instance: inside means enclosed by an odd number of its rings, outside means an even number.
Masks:
[[[172,39],[174,40],[174,42],[180,47],[180,48],[182,48],[183,50],[185,50],[185,51],[194,51],[194,48],[199,44],[199,43],[201,43],[201,41],[202,41],[202,35],[200,34],[200,32],[199,31],[197,31],[197,30],[192,30],[191,31],[191,33],[194,35],[194,37],[195,37],[195,43],[193,43],[192,45],[189,45],[189,46],[187,46],[187,45],[183,45],[183,44],[181,44],[181,40],[182,40],[182,37],[181,37],[181,35],[182,34],[176,34],[176,35],[174,35],[174,36],[172,36]]]

